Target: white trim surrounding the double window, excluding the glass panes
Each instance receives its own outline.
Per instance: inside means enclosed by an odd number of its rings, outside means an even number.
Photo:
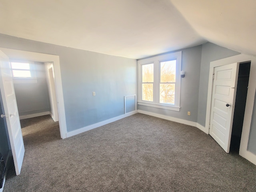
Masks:
[[[174,52],[154,56],[151,58],[138,60],[138,105],[180,111],[180,71],[181,71],[182,52]],[[176,60],[176,85],[175,85],[175,101],[172,104],[162,104],[159,100],[160,91],[160,62],[166,60]],[[153,102],[142,100],[142,65],[154,63],[154,83],[153,83]]]

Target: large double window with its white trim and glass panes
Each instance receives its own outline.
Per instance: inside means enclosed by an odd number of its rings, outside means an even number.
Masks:
[[[180,110],[181,54],[138,60],[138,104]]]

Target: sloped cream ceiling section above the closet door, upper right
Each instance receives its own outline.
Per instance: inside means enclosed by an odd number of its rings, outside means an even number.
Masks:
[[[256,0],[171,0],[205,40],[256,55]]]

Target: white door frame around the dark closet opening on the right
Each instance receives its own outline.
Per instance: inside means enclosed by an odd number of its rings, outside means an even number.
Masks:
[[[250,134],[250,126],[252,121],[254,96],[255,96],[255,90],[256,90],[256,83],[255,83],[256,82],[256,57],[246,55],[246,54],[239,54],[236,56],[210,62],[205,127],[206,129],[208,129],[210,124],[211,104],[212,104],[212,86],[213,86],[212,75],[214,73],[214,68],[218,66],[235,63],[235,62],[246,62],[246,61],[251,61],[251,66],[250,66],[250,76],[249,76],[248,92],[247,92],[247,98],[246,98],[246,107],[244,111],[244,123],[242,128],[242,138],[240,143],[239,154],[242,157],[249,160],[250,162],[252,162],[253,164],[256,164],[256,154],[253,154],[247,150],[248,139]],[[208,131],[206,130],[206,132],[209,133],[209,129]]]

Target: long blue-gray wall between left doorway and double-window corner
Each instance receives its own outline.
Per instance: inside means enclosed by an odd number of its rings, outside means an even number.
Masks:
[[[124,114],[124,96],[137,94],[134,59],[4,34],[0,34],[0,47],[60,56],[68,132]]]

